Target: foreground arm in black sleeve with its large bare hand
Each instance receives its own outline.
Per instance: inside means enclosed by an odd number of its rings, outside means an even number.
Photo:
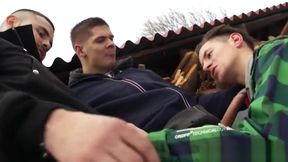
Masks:
[[[123,161],[157,161],[146,135],[124,121],[63,108],[46,107],[46,110],[45,106],[38,107],[33,102],[34,98],[20,92],[1,95],[1,147],[7,149],[8,154],[13,150],[23,161],[41,159],[39,144],[43,140],[42,127],[45,127],[45,146],[59,161],[89,158],[101,161],[111,157],[124,158]],[[49,112],[52,114],[46,124]]]

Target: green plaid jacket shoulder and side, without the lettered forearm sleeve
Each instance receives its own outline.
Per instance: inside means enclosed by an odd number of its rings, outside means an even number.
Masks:
[[[267,138],[269,161],[288,161],[288,37],[262,45],[254,55],[251,119]]]

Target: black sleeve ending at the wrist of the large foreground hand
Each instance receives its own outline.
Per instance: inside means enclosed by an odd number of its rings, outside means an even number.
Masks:
[[[59,104],[33,98],[25,93],[1,86],[1,141],[8,153],[25,156],[39,155],[46,120]],[[39,154],[37,154],[37,152]],[[13,157],[12,157],[13,158]],[[36,157],[33,157],[36,158]]]

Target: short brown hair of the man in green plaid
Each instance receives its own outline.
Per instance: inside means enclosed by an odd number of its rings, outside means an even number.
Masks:
[[[195,52],[199,53],[201,47],[209,40],[218,37],[218,36],[229,36],[230,34],[237,32],[240,33],[248,45],[252,50],[254,49],[254,39],[245,31],[240,28],[233,28],[227,24],[222,24],[216,26],[209,30],[202,38],[202,41],[196,46]]]

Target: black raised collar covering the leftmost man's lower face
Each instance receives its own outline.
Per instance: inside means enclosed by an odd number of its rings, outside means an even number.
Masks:
[[[0,37],[7,41],[25,48],[30,55],[40,61],[38,49],[33,35],[32,25],[19,26],[0,32]],[[41,61],[40,61],[41,62]]]

